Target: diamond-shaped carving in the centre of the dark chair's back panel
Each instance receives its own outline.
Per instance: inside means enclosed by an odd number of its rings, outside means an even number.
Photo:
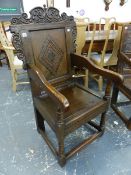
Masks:
[[[46,69],[48,69],[51,74],[55,75],[63,55],[64,52],[62,49],[58,46],[54,39],[48,35],[47,38],[44,39],[42,48],[40,50],[40,62],[46,67]]]

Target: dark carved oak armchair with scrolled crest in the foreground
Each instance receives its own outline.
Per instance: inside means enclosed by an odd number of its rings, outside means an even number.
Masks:
[[[76,24],[72,16],[60,15],[54,7],[36,7],[30,15],[12,19],[13,43],[27,67],[37,130],[64,166],[68,158],[103,134],[111,82],[119,83],[122,77],[75,54]],[[77,83],[74,66],[109,80],[104,97]],[[100,123],[92,121],[99,114]],[[56,135],[58,148],[52,144],[54,138],[48,137],[45,121]],[[95,133],[66,152],[66,136],[85,124]]]

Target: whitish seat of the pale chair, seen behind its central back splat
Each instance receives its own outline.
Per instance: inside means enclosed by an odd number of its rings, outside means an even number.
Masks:
[[[111,57],[111,54],[110,53],[106,53],[105,56],[104,56],[104,64],[106,64],[109,59]],[[100,65],[100,61],[101,61],[101,57],[100,57],[100,54],[98,53],[92,53],[91,54],[91,60],[96,64],[96,65]]]

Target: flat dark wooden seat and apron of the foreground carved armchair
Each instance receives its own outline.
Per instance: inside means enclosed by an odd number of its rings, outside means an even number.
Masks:
[[[68,110],[64,113],[64,123],[68,128],[72,127],[72,123],[74,125],[74,120],[76,120],[77,127],[81,126],[81,122],[83,122],[83,124],[88,122],[92,119],[92,116],[94,116],[92,115],[92,111],[93,113],[95,111],[96,115],[100,114],[105,111],[108,105],[107,101],[76,86],[68,87],[62,90],[61,93],[70,103]],[[58,106],[56,106],[56,103],[54,103],[51,98],[47,96],[35,98],[34,102],[40,113],[44,111],[44,117],[53,127],[55,121],[57,121],[56,112]],[[83,121],[79,120],[80,118],[83,118]]]

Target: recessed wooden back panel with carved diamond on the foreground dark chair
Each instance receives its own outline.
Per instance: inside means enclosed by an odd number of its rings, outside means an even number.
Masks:
[[[64,28],[32,30],[28,36],[31,46],[27,48],[28,42],[24,44],[23,39],[25,53],[28,53],[31,62],[41,69],[47,80],[68,74],[70,66],[67,62]]]

